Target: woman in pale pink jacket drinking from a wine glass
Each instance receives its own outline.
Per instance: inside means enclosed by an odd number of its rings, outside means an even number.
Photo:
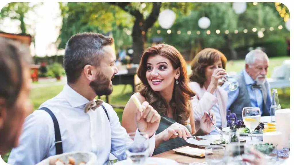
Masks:
[[[191,63],[189,87],[196,92],[192,100],[195,120],[212,111],[216,117],[216,126],[227,127],[226,105],[228,95],[219,85],[218,79],[225,78],[226,58],[223,53],[213,48],[201,50]],[[214,129],[211,134],[218,134]]]

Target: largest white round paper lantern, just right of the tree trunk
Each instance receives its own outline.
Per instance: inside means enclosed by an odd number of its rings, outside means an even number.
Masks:
[[[164,29],[171,28],[175,20],[176,20],[176,13],[170,9],[163,10],[158,15],[158,23]]]

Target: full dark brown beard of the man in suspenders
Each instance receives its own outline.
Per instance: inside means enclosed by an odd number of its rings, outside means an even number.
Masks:
[[[114,78],[114,75],[112,78]],[[90,83],[90,87],[98,96],[110,95],[113,91],[113,87],[110,85],[111,79],[100,72],[96,75],[96,79]]]

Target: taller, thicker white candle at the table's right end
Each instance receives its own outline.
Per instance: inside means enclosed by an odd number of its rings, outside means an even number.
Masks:
[[[290,109],[275,111],[276,131],[282,132],[280,141],[283,148],[289,148],[290,140]]]

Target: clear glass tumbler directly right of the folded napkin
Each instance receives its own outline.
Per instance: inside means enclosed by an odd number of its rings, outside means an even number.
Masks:
[[[223,164],[225,158],[225,147],[205,147],[205,160],[207,164]]]

